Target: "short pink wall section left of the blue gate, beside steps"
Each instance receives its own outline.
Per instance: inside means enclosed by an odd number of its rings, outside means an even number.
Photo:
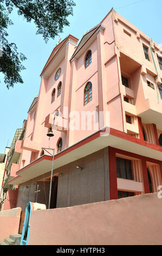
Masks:
[[[10,235],[18,234],[20,225],[21,208],[0,211],[0,241],[9,238]]]

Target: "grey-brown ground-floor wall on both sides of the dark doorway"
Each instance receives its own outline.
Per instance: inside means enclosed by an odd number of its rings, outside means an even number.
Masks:
[[[62,173],[58,180],[57,208],[105,200],[104,157],[103,150],[100,150],[54,169],[54,175]],[[76,169],[76,166],[83,169]],[[18,187],[17,206],[24,211],[29,201],[35,202],[35,191],[39,184],[41,192],[38,193],[37,202],[46,204],[48,208],[50,175],[49,172],[21,184]]]

